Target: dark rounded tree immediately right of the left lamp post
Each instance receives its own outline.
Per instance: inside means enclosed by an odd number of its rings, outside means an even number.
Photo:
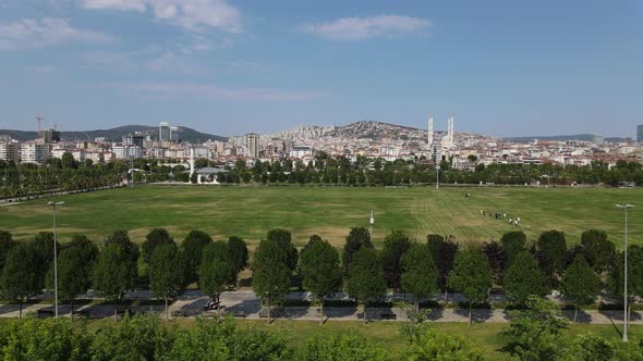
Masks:
[[[58,254],[58,295],[71,304],[71,318],[74,318],[74,301],[92,287],[92,263],[85,258],[81,247],[63,248]],[[47,279],[53,288],[53,271],[50,269]]]

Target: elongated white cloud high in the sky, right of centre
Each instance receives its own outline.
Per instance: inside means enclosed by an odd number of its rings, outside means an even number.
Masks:
[[[408,15],[342,17],[328,23],[304,24],[303,30],[315,36],[337,40],[362,40],[373,37],[417,33],[433,26],[433,22]]]

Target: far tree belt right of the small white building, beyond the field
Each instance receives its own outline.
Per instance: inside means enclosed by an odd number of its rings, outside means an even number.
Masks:
[[[620,182],[643,184],[643,167],[639,162],[618,161],[609,169],[608,164],[595,161],[590,165],[555,165],[555,164],[490,164],[477,163],[472,158],[473,171],[456,170],[452,160],[439,162],[440,182],[447,184],[495,183],[524,185],[541,182],[550,185],[607,184],[617,186]],[[217,165],[201,160],[201,165]],[[351,162],[345,157],[337,159],[318,154],[313,162],[256,161],[248,169],[244,161],[238,161],[228,174],[219,174],[219,182],[233,184],[326,184],[344,186],[393,186],[434,183],[436,167],[424,158],[414,160],[367,159],[357,157]]]

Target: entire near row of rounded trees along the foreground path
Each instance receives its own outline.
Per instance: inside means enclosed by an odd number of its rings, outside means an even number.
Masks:
[[[414,310],[437,292],[460,292],[471,309],[489,301],[492,290],[502,290],[507,301],[523,306],[530,296],[545,296],[558,289],[578,310],[595,302],[605,291],[616,301],[622,299],[623,257],[603,231],[590,229],[581,242],[569,247],[565,233],[549,231],[527,242],[524,233],[509,232],[499,241],[463,245],[453,237],[428,235],[426,241],[413,241],[401,232],[392,232],[383,249],[375,249],[364,227],[352,228],[340,252],[327,240],[313,235],[301,249],[282,228],[270,229],[260,240],[251,260],[243,239],[213,240],[202,231],[192,231],[177,245],[165,228],[154,228],[138,247],[128,233],[118,231],[99,248],[76,235],[59,245],[59,294],[72,304],[88,289],[96,289],[117,303],[134,289],[139,276],[149,289],[166,302],[197,284],[210,298],[236,286],[239,273],[252,270],[252,286],[270,311],[293,287],[311,291],[320,307],[324,299],[345,290],[367,307],[380,302],[389,289],[413,297]],[[341,256],[341,257],[340,257]],[[53,236],[39,233],[32,241],[14,241],[0,232],[0,291],[21,304],[43,289],[52,288]],[[630,297],[643,296],[643,247],[630,246],[628,252]],[[139,275],[139,264],[144,272]],[[73,314],[73,312],[72,312]],[[575,314],[574,314],[575,320]]]

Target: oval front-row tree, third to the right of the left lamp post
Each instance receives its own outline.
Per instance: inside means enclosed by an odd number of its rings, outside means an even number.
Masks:
[[[170,318],[168,299],[182,291],[183,270],[177,245],[160,245],[149,262],[149,287],[156,297],[166,301],[166,320]]]

